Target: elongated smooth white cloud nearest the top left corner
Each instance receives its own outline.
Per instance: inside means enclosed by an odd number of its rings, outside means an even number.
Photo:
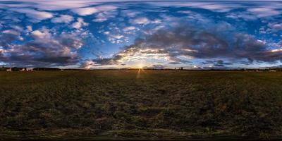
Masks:
[[[48,18],[52,18],[53,14],[49,13],[49,12],[44,12],[44,11],[35,11],[32,9],[28,9],[28,8],[19,8],[19,9],[11,9],[12,11],[16,11],[18,13],[25,13],[27,17],[33,18],[37,21],[40,20],[46,20]]]

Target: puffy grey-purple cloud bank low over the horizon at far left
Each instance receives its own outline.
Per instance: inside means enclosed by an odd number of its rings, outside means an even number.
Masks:
[[[43,27],[30,33],[32,40],[21,44],[10,44],[17,38],[6,38],[3,41],[6,46],[1,49],[0,59],[12,66],[72,65],[80,59],[78,49],[82,47],[83,42],[79,35],[79,32],[62,32],[56,35]]]

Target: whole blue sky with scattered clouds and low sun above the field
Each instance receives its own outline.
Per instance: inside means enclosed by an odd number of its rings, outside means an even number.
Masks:
[[[281,1],[0,0],[0,66],[282,66]]]

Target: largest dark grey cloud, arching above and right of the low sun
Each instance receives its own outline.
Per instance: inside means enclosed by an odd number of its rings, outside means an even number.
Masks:
[[[157,30],[144,39],[136,39],[135,44],[124,47],[124,50],[111,59],[94,60],[97,63],[116,63],[125,56],[136,51],[150,51],[150,54],[168,54],[173,64],[187,63],[185,56],[193,59],[224,58],[233,61],[247,60],[276,62],[282,60],[281,50],[271,50],[264,42],[255,39],[252,35],[239,32],[228,32],[222,35],[221,30],[212,32],[209,29],[200,29],[191,25],[178,25],[166,30]],[[148,52],[143,52],[144,54]],[[224,66],[223,61],[215,63]]]

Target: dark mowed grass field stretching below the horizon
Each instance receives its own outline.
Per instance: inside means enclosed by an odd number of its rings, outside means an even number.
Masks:
[[[282,137],[282,73],[0,72],[0,139]]]

